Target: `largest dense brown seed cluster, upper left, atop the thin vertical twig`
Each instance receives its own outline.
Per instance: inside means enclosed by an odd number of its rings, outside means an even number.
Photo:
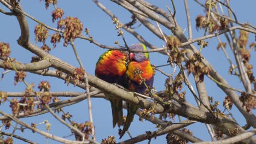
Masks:
[[[77,17],[66,17],[66,19],[61,19],[58,21],[58,29],[64,29],[63,38],[64,46],[67,46],[71,39],[77,38],[83,31],[83,24]]]

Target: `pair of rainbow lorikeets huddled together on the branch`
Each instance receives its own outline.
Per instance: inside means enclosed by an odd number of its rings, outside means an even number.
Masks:
[[[147,50],[144,44],[132,44],[130,50]],[[141,74],[136,74],[136,71]],[[117,83],[132,92],[144,94],[147,87],[153,86],[153,68],[149,62],[148,53],[130,52],[129,61],[123,52],[119,50],[108,50],[104,52],[96,64],[95,75],[109,83]],[[144,82],[146,85],[144,85]],[[123,100],[106,94],[112,107],[113,127],[118,127],[123,123]],[[120,134],[120,138],[129,129],[133,117],[138,110],[137,105],[127,104],[127,116]]]

